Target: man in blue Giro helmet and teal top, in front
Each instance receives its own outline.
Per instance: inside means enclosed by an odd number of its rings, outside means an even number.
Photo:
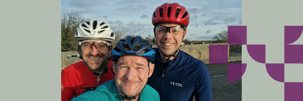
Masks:
[[[155,51],[141,36],[119,39],[112,49],[115,79],[72,101],[160,101],[158,92],[146,85],[154,70]]]

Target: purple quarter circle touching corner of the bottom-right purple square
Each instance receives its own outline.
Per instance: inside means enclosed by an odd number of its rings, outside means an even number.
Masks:
[[[284,63],[266,63],[265,66],[272,79],[284,82]]]

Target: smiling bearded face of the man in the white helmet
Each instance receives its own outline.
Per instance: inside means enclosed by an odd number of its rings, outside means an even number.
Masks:
[[[90,39],[85,39],[82,41],[88,41]],[[103,41],[104,40],[98,39],[98,40],[92,40],[92,41]],[[82,43],[83,44],[83,43]],[[98,48],[98,46],[97,46]],[[89,49],[81,49],[81,55],[83,58],[83,61],[85,65],[92,70],[98,70],[102,66],[106,65],[108,56],[111,54],[111,50],[108,51],[109,46],[106,45],[106,47],[102,50],[96,49],[95,46],[92,46],[92,48]]]

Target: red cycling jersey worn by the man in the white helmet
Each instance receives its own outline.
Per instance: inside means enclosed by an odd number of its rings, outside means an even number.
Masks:
[[[97,87],[114,79],[111,64],[112,61],[108,64],[108,72],[100,76],[99,82],[97,81],[98,75],[89,70],[83,61],[67,66],[61,72],[61,101],[70,101],[73,96],[82,94],[86,87]]]

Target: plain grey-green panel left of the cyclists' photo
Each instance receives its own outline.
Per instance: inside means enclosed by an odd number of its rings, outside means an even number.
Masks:
[[[60,101],[61,1],[2,1],[2,101]]]

